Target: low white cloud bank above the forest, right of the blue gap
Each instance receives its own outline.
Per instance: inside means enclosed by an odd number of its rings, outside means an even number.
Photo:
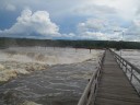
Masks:
[[[120,40],[121,34],[114,31],[124,31],[124,28],[106,19],[89,19],[78,24],[78,37],[81,38]]]

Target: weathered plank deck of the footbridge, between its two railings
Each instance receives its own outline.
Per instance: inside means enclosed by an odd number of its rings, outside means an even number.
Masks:
[[[106,50],[94,105],[140,105],[138,93],[109,50]]]

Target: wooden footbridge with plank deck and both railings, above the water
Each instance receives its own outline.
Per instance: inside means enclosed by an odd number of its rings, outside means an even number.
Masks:
[[[139,73],[137,67],[114,51],[106,50],[78,105],[140,105],[140,96],[126,78],[126,71],[129,72],[131,82],[137,77],[135,72]],[[139,81],[139,77],[137,78]]]

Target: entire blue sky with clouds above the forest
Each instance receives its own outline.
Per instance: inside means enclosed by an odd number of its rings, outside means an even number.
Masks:
[[[0,36],[140,40],[140,0],[0,0]]]

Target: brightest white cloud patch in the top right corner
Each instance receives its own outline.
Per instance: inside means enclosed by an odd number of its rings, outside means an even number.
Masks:
[[[132,20],[137,10],[140,7],[139,0],[92,0],[93,3],[98,5],[106,5],[114,8],[117,15],[125,20]]]

